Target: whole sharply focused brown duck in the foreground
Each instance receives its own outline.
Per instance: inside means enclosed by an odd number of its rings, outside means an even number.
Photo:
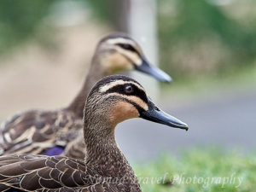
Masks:
[[[189,128],[183,121],[158,108],[136,80],[111,75],[93,86],[85,102],[85,159],[43,154],[1,156],[0,190],[142,191],[114,136],[116,125],[131,118],[147,119],[183,130]]]

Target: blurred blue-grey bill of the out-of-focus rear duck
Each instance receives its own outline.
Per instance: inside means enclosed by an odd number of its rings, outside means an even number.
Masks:
[[[146,73],[148,75],[153,76],[155,79],[158,79],[163,82],[170,83],[172,82],[172,78],[167,73],[160,70],[158,67],[154,67],[148,63],[148,61],[143,57],[143,62],[140,66],[135,65],[136,70]]]

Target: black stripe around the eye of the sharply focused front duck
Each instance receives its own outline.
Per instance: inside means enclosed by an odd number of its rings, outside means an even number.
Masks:
[[[131,93],[125,92],[125,87],[128,85],[131,86],[133,89]],[[148,97],[146,96],[145,92],[141,89],[138,89],[137,86],[134,84],[117,84],[112,88],[110,88],[109,90],[107,90],[106,93],[119,93],[125,96],[137,96],[140,99],[142,99],[143,102],[148,103]]]

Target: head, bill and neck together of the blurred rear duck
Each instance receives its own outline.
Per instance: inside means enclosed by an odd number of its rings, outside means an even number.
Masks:
[[[168,74],[149,64],[143,50],[132,38],[123,33],[112,33],[97,44],[84,86],[67,109],[82,118],[84,99],[92,86],[105,76],[125,70],[147,73],[163,82],[172,81]]]

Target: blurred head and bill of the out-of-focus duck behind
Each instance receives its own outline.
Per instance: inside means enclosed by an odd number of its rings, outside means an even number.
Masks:
[[[137,70],[163,82],[172,81],[167,73],[148,62],[137,42],[123,33],[112,33],[102,38],[97,45],[96,56],[101,59],[105,75],[123,70]]]

